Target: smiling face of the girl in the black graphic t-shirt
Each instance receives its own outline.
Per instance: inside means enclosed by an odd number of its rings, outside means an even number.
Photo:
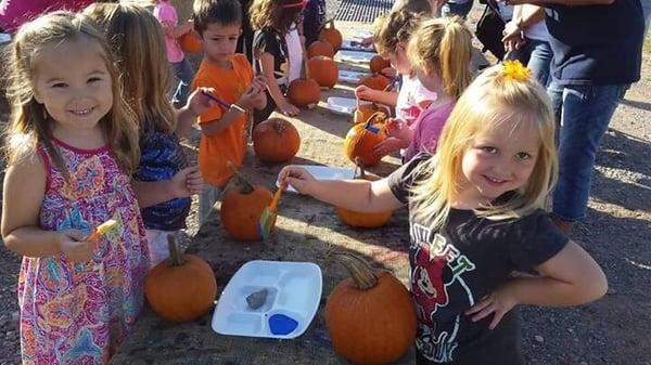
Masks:
[[[461,170],[465,186],[474,203],[486,204],[506,192],[523,187],[528,182],[540,138],[531,126],[513,130],[503,121],[497,128],[477,133],[463,153]]]

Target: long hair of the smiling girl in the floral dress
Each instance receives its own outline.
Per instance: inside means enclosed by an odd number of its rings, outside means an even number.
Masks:
[[[113,106],[99,121],[117,164],[128,174],[135,170],[140,151],[138,129],[133,113],[122,97],[118,73],[104,35],[82,14],[56,11],[24,24],[14,37],[8,62],[8,91],[11,105],[10,126],[7,132],[9,165],[22,164],[36,156],[41,144],[54,166],[68,178],[68,171],[58,148],[50,140],[51,120],[44,105],[35,99],[35,69],[42,50],[51,44],[85,39],[97,43],[112,81]],[[71,67],[74,67],[71,61]]]

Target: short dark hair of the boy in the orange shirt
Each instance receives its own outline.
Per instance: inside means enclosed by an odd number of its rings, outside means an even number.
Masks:
[[[241,25],[242,6],[238,0],[194,0],[194,30],[203,35],[210,24]]]

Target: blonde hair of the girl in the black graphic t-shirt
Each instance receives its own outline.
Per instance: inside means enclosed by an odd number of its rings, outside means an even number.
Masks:
[[[436,155],[416,169],[416,174],[427,177],[411,190],[416,219],[431,221],[435,229],[445,225],[450,201],[458,196],[464,180],[463,154],[475,135],[506,121],[513,122],[514,130],[533,127],[537,131],[540,148],[536,164],[526,184],[507,201],[475,212],[490,220],[505,220],[545,206],[558,174],[551,103],[533,77],[515,80],[502,65],[496,65],[481,74],[461,95],[443,129]]]

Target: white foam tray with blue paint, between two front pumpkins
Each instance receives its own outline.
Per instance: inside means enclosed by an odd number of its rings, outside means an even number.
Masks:
[[[213,313],[213,330],[232,336],[298,337],[317,313],[322,285],[321,269],[311,262],[248,261],[224,288]],[[252,295],[264,302],[252,307]]]

